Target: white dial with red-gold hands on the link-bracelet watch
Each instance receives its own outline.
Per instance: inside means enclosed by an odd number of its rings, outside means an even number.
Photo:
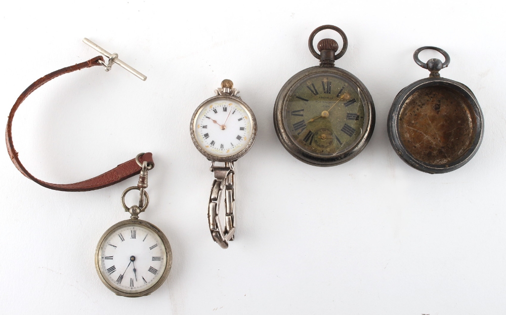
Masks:
[[[212,98],[200,106],[193,131],[198,145],[208,154],[232,156],[251,140],[251,114],[232,97]]]

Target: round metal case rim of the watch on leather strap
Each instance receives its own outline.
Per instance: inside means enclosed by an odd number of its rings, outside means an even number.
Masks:
[[[161,241],[163,242],[163,246],[165,246],[165,253],[166,253],[165,270],[163,271],[158,282],[154,286],[152,286],[151,288],[147,289],[146,291],[136,292],[136,293],[117,290],[116,288],[109,285],[109,283],[104,279],[102,272],[100,272],[100,259],[101,259],[100,247],[101,247],[102,243],[104,242],[105,238],[117,227],[122,226],[122,225],[130,225],[130,224],[142,225],[145,228],[149,228],[149,229],[153,230],[158,235],[158,237],[160,237]],[[109,290],[114,292],[116,295],[120,295],[120,296],[141,297],[141,296],[150,295],[151,293],[153,293],[153,291],[158,289],[163,284],[163,282],[165,282],[165,279],[167,279],[167,277],[168,277],[168,273],[171,272],[171,267],[172,267],[172,249],[171,249],[171,244],[168,243],[167,237],[165,236],[165,234],[163,234],[163,232],[156,225],[151,224],[148,221],[144,221],[144,220],[128,219],[128,220],[120,221],[120,222],[114,224],[113,226],[109,227],[107,229],[107,231],[105,231],[105,233],[100,238],[100,241],[97,244],[97,249],[95,250],[95,269],[97,270],[100,280]]]

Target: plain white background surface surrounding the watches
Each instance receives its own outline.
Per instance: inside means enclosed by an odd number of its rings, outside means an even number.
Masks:
[[[504,21],[504,5],[492,1],[3,1],[4,124],[37,78],[97,55],[83,37],[148,76],[117,65],[61,76],[23,103],[14,142],[27,169],[54,183],[153,152],[141,218],[165,232],[174,264],[150,296],[115,296],[96,274],[95,247],[128,218],[119,196],[137,178],[54,191],[22,176],[4,149],[0,313],[504,314]],[[282,85],[318,65],[307,40],[323,24],[346,32],[336,66],[360,78],[376,107],[370,143],[331,168],[294,159],[272,122]],[[316,40],[324,36],[338,38]],[[412,59],[426,45],[450,54],[441,75],[469,86],[485,117],[478,153],[449,174],[412,169],[387,136],[395,95],[429,75]],[[189,135],[194,109],[224,78],[258,121],[255,145],[236,164],[237,232],[227,250],[209,234],[212,173]]]

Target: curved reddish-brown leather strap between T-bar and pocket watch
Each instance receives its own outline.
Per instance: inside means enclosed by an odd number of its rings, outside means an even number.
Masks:
[[[33,180],[39,185],[63,191],[88,191],[113,185],[122,180],[130,178],[136,174],[139,174],[141,171],[141,167],[137,164],[135,159],[132,159],[128,162],[118,165],[116,168],[108,172],[105,172],[102,175],[99,175],[97,177],[85,181],[81,181],[74,184],[51,184],[31,175],[21,164],[21,161],[19,161],[18,152],[14,148],[14,143],[12,142],[12,120],[14,119],[14,113],[18,109],[19,105],[21,105],[21,103],[28,97],[28,95],[30,95],[33,91],[35,91],[48,81],[53,80],[57,76],[84,68],[100,66],[101,64],[99,61],[103,62],[104,58],[102,56],[97,56],[88,61],[81,62],[76,65],[51,72],[50,74],[39,78],[37,81],[32,83],[23,93],[21,93],[21,95],[16,100],[16,103],[14,103],[14,106],[12,106],[11,113],[9,114],[9,119],[7,121],[7,129],[5,131],[5,141],[7,143],[7,151],[9,151],[9,156],[11,157],[12,163],[14,163],[14,165],[21,172],[21,174]],[[141,163],[146,161],[148,162],[148,164],[152,164],[154,166],[153,156],[151,153],[144,153],[142,156],[139,157],[139,161]]]

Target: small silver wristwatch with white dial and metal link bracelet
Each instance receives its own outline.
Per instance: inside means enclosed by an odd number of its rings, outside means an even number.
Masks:
[[[211,186],[207,218],[213,240],[222,248],[234,240],[235,168],[234,162],[251,148],[257,136],[257,120],[249,106],[237,96],[230,80],[200,104],[190,122],[193,144],[207,160],[215,180]],[[215,165],[223,162],[223,166]],[[225,193],[225,227],[219,219],[222,193]]]

